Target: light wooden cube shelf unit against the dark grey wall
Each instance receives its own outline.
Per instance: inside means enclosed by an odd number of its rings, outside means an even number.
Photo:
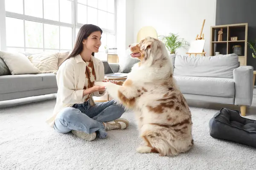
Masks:
[[[222,41],[218,41],[218,31],[223,30]],[[215,52],[220,54],[232,54],[233,45],[241,45],[242,54],[239,55],[240,65],[247,65],[247,32],[248,23],[211,26],[210,56]],[[238,37],[237,41],[231,41],[231,37]]]

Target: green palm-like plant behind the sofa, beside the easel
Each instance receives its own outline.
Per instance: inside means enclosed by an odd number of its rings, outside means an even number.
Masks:
[[[171,54],[175,54],[178,48],[185,48],[190,45],[183,38],[179,38],[178,34],[170,33],[168,36],[160,35],[159,37],[165,43]]]

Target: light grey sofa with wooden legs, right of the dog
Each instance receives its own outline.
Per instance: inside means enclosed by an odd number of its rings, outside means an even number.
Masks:
[[[252,66],[239,66],[236,54],[170,57],[174,78],[186,99],[239,105],[245,115],[253,100]]]

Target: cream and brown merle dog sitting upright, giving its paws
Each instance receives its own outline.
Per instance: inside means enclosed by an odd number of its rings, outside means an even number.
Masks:
[[[173,78],[172,62],[164,43],[146,37],[129,45],[140,59],[123,83],[96,82],[116,102],[134,111],[144,143],[138,153],[175,156],[193,146],[191,112]]]

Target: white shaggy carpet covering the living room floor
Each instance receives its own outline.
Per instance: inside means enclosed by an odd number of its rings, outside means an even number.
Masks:
[[[55,99],[0,109],[0,169],[3,170],[255,170],[256,149],[209,136],[215,110],[191,108],[195,146],[176,157],[136,153],[132,113],[126,130],[86,142],[45,124]],[[256,119],[256,115],[247,116]]]

